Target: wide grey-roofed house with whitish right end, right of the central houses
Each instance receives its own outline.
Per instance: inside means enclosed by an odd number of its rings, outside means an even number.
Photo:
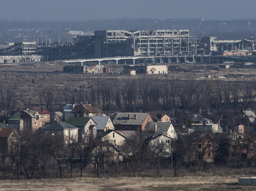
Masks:
[[[207,118],[186,121],[186,127],[193,130],[212,131],[213,133],[222,132],[222,128],[219,127],[218,123],[215,124]]]

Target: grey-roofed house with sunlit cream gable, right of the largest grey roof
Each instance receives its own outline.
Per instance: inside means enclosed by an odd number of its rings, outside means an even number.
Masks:
[[[177,138],[176,131],[170,122],[148,122],[145,129],[156,134],[164,134],[172,139]]]

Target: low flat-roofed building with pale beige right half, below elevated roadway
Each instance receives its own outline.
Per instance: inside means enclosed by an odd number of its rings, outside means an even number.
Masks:
[[[125,65],[124,74],[167,74],[167,65]],[[132,71],[132,72],[131,72]],[[135,72],[134,72],[135,71]]]

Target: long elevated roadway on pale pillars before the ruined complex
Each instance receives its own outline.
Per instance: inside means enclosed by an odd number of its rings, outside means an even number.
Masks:
[[[123,60],[126,64],[127,60],[137,59],[151,59],[152,63],[223,63],[223,62],[238,62],[238,63],[256,63],[256,56],[211,56],[211,55],[182,55],[182,56],[139,56],[139,57],[103,57],[103,58],[83,58],[83,59],[71,59],[71,60],[58,60],[66,63],[81,63],[81,65],[86,62],[98,62],[101,64],[103,61],[112,61],[115,60],[118,64],[119,60]]]

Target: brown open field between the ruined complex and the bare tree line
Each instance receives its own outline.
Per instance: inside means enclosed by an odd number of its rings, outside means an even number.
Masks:
[[[168,75],[136,75],[125,76],[118,72],[123,70],[123,66],[113,64],[108,65],[114,74],[73,74],[63,73],[63,62],[38,62],[26,64],[0,64],[0,83],[8,87],[10,97],[15,102],[15,109],[30,107],[35,104],[38,108],[42,92],[50,90],[55,95],[71,95],[76,90],[84,90],[82,95],[86,97],[89,94],[91,85],[100,84],[96,80],[113,79],[116,83],[123,83],[127,79],[140,79],[149,81],[158,81],[161,85],[167,79],[179,80],[205,80],[206,75],[210,75],[209,80],[220,81],[246,81],[256,79],[256,68],[254,65],[240,65],[229,69],[220,69],[218,64],[177,64],[169,65],[170,73]],[[221,76],[222,78],[219,78]],[[243,77],[242,77],[243,76]],[[226,78],[224,78],[226,77]],[[122,86],[123,84],[121,84]],[[69,92],[69,93],[68,93]],[[67,98],[68,99],[68,98]],[[87,98],[83,98],[87,99]],[[63,98],[64,100],[64,98]],[[70,100],[67,100],[70,103]],[[63,106],[66,102],[61,103]],[[62,108],[61,106],[61,108]],[[61,109],[60,108],[60,109]],[[12,110],[15,110],[12,108]]]

